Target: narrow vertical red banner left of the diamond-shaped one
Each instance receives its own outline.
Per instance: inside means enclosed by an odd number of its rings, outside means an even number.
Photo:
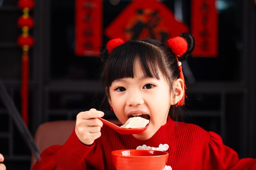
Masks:
[[[76,0],[75,54],[98,56],[102,46],[103,1]]]

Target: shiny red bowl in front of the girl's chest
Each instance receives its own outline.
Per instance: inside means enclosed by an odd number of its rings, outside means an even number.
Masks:
[[[159,150],[115,150],[111,154],[117,170],[163,170],[169,155]]]

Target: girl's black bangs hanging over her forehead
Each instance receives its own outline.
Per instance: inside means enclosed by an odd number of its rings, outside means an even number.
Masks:
[[[120,50],[121,49],[121,50]],[[132,49],[132,50],[131,50]],[[163,62],[159,60],[162,57],[157,47],[147,42],[137,41],[124,43],[115,48],[109,55],[103,68],[101,80],[106,87],[111,86],[116,79],[134,77],[135,61],[138,61],[146,77],[159,79],[157,68],[162,68]]]

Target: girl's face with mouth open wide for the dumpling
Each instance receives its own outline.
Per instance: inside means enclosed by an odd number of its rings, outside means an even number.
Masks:
[[[139,62],[135,62],[134,73],[134,78],[122,78],[112,82],[109,103],[122,124],[131,115],[146,115],[149,118],[148,128],[141,134],[133,135],[137,139],[146,140],[166,124],[173,97],[161,72],[160,79],[145,77]]]

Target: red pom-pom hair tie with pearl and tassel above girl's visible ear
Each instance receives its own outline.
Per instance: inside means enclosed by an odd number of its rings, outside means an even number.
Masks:
[[[180,78],[184,82],[184,95],[182,99],[176,104],[176,106],[183,106],[185,104],[185,97],[186,97],[186,94],[185,94],[186,84],[185,84],[185,79],[182,72],[182,66],[181,66],[182,63],[179,61],[179,57],[182,57],[182,55],[184,55],[188,51],[188,42],[183,37],[175,37],[168,40],[167,44],[175,54],[175,57],[177,59],[177,64],[180,69]]]

